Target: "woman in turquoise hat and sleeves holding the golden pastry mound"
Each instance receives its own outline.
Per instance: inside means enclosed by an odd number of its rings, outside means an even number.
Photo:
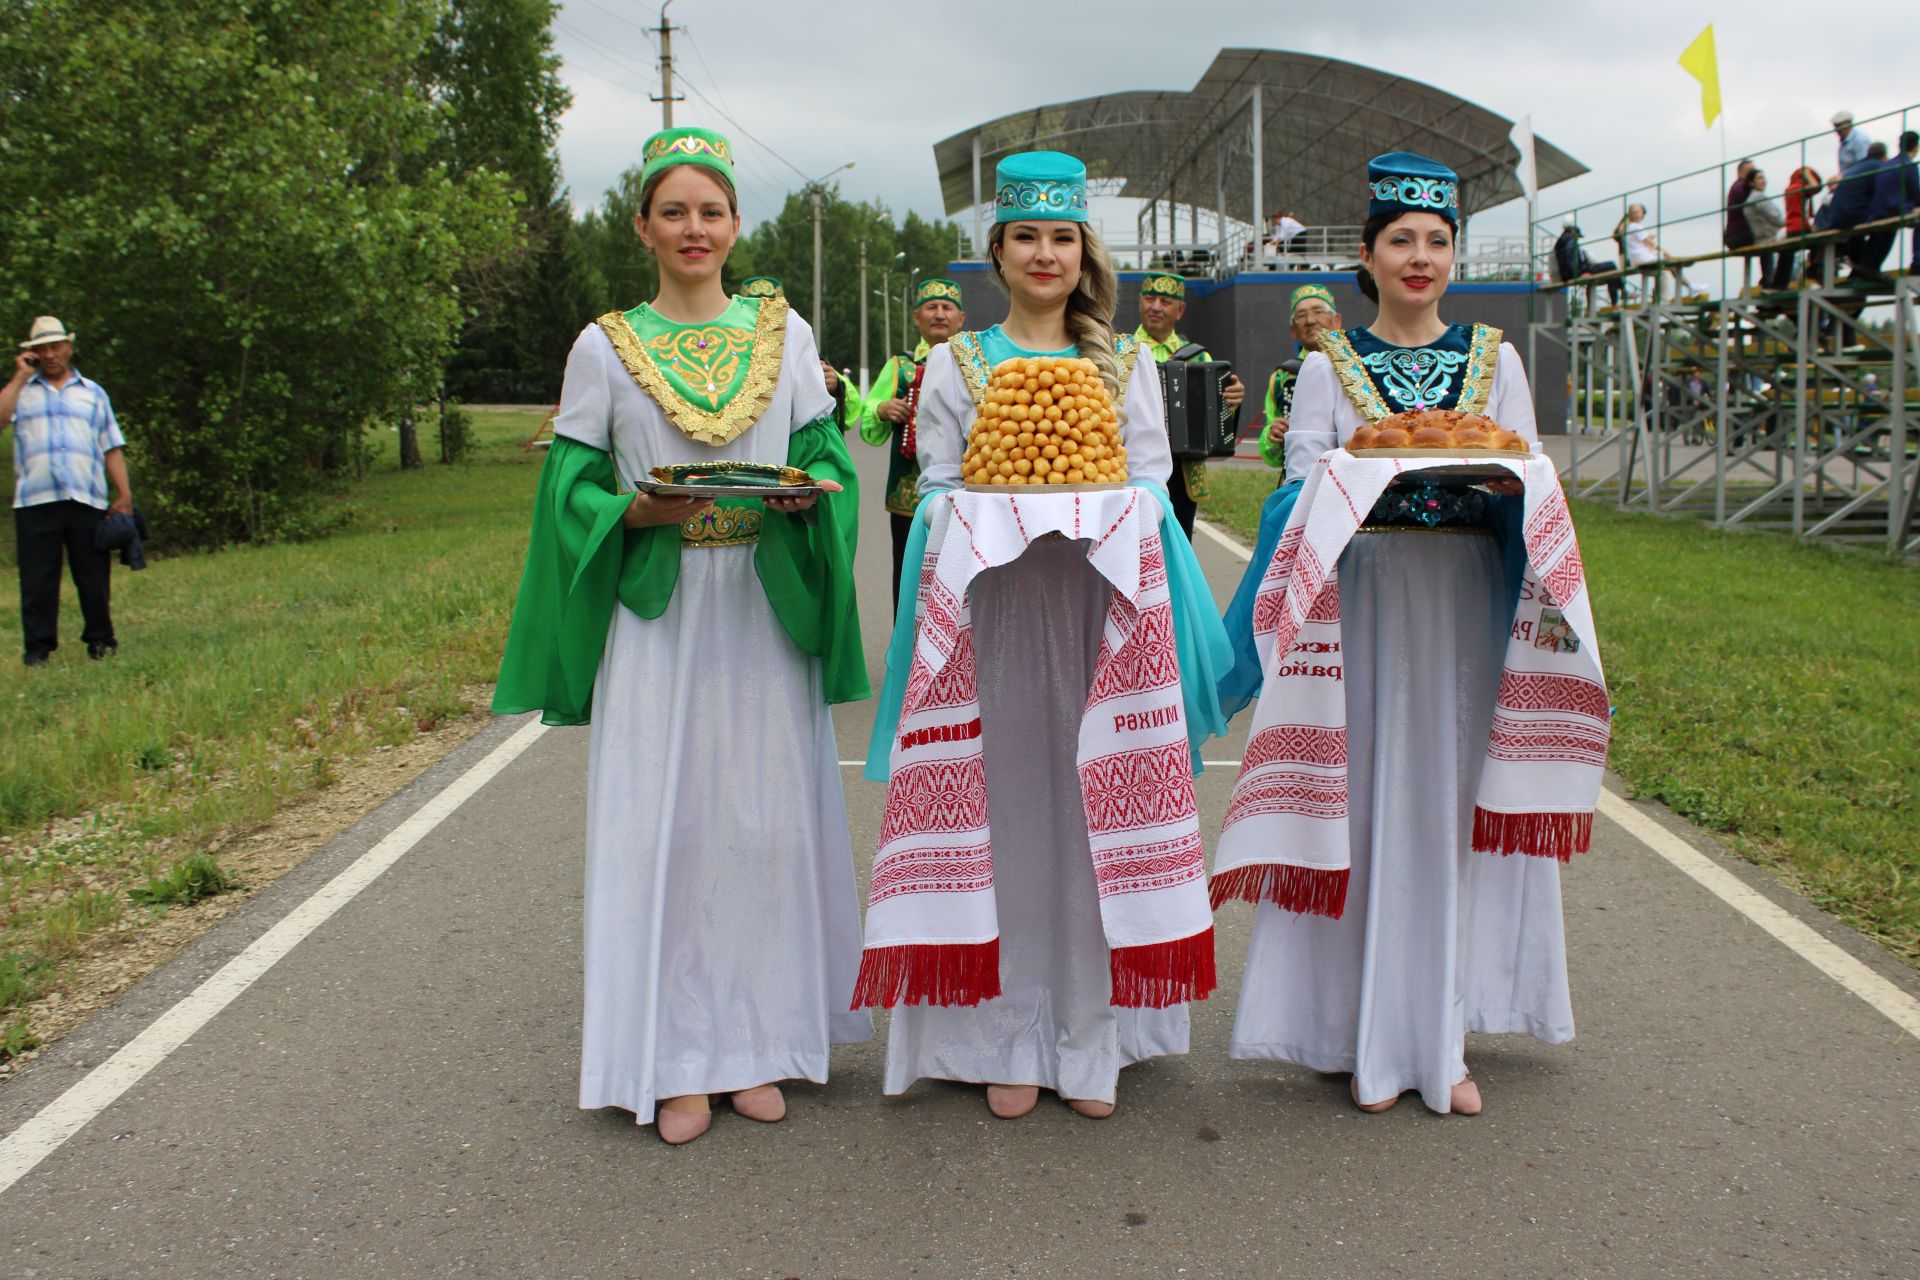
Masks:
[[[1014,357],[1083,357],[1094,363],[1121,413],[1131,484],[1160,503],[1188,731],[1221,731],[1213,687],[1227,662],[1225,633],[1192,547],[1167,503],[1173,468],[1165,409],[1152,361],[1114,334],[1117,282],[1087,223],[1087,169],[1071,155],[1008,155],[996,173],[989,238],[995,280],[1010,296],[1006,322],[962,332],[927,355],[918,399],[920,510],[906,547],[904,583],[918,583],[927,512],[960,486],[960,461],[987,374]],[[1119,1069],[1187,1052],[1187,1006],[1116,1007],[1108,942],[1089,854],[1075,735],[1092,677],[1110,587],[1085,547],[1035,541],[972,591],[975,662],[993,821],[1002,994],[973,1007],[902,1006],[893,1011],[885,1090],[918,1079],[987,1084],[995,1115],[1014,1119],[1050,1088],[1087,1117],[1114,1111]],[[899,725],[916,620],[902,591],[868,752],[868,777],[885,779]],[[1014,725],[995,733],[993,725]],[[1198,750],[1196,750],[1198,762]]]

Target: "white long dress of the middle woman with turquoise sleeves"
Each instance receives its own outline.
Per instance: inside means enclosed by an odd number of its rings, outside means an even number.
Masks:
[[[1165,486],[1173,455],[1150,359],[1139,357],[1127,384],[1121,439],[1129,474]],[[920,391],[922,493],[960,484],[973,416],[943,344],[927,357]],[[1187,1052],[1185,1004],[1110,1004],[1106,933],[1073,764],[1110,591],[1087,562],[1085,543],[1056,539],[973,580],[1002,992],[973,1007],[895,1009],[889,1094],[937,1079],[1039,1084],[1062,1098],[1114,1102],[1121,1067]]]

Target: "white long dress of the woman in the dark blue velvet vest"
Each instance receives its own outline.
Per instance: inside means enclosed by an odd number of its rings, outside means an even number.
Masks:
[[[1486,415],[1538,441],[1519,353],[1500,347]],[[1361,415],[1332,365],[1300,368],[1288,480]],[[1352,1071],[1365,1103],[1419,1090],[1434,1111],[1467,1075],[1467,1032],[1572,1038],[1559,864],[1473,852],[1473,798],[1513,603],[1498,541],[1356,533],[1340,557],[1352,877],[1340,919],[1271,902],[1233,1025],[1233,1057]]]

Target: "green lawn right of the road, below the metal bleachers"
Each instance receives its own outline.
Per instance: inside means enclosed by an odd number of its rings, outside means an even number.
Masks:
[[[1213,468],[1252,541],[1271,474]],[[1574,503],[1636,796],[1920,965],[1920,568]]]

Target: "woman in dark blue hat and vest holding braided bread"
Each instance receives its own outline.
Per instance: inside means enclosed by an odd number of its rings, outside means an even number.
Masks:
[[[1321,334],[1302,365],[1288,478],[1361,422],[1407,409],[1482,413],[1538,441],[1513,345],[1484,324],[1440,319],[1457,178],[1394,152],[1369,163],[1367,180],[1359,286],[1380,313],[1367,328]],[[1340,557],[1346,912],[1260,904],[1231,1052],[1352,1073],[1365,1111],[1417,1090],[1434,1111],[1475,1115],[1467,1032],[1557,1044],[1572,1036],[1572,1006],[1559,864],[1471,848],[1521,578],[1519,499],[1432,497],[1436,507],[1405,503],[1390,489]],[[1256,560],[1248,574],[1263,570]]]

